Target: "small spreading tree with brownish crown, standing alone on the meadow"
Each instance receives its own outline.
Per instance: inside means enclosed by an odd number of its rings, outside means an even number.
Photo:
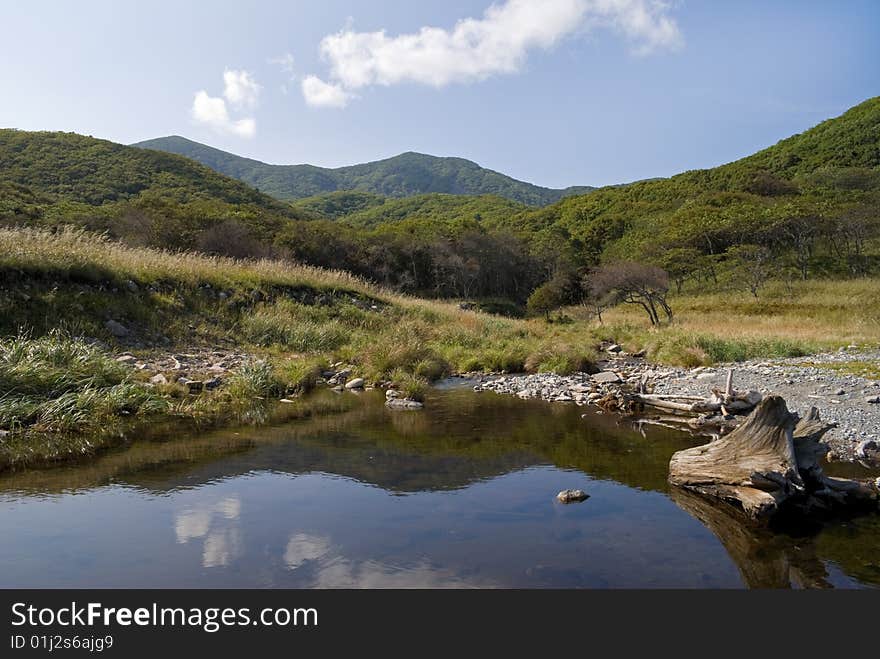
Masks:
[[[641,306],[652,325],[660,324],[658,307],[672,322],[672,308],[666,301],[669,275],[656,265],[618,261],[597,268],[590,277],[590,294],[596,298],[612,297],[625,304]]]

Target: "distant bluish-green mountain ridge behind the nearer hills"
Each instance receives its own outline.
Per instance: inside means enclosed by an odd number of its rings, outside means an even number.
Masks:
[[[268,165],[178,136],[160,137],[133,146],[192,158],[221,174],[288,201],[325,192],[357,190],[388,197],[433,192],[493,194],[531,206],[544,206],[568,195],[592,190],[590,187],[542,188],[463,158],[439,158],[412,152],[362,165],[326,169],[312,165]]]

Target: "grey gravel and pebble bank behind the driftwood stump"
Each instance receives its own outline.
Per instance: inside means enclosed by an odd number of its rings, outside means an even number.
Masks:
[[[713,367],[677,368],[651,364],[642,357],[611,355],[598,363],[599,373],[493,376],[481,378],[477,391],[520,398],[591,406],[621,387],[642,383],[655,394],[708,396],[723,390],[727,372],[740,390],[782,396],[802,416],[816,407],[837,424],[825,437],[830,459],[870,459],[871,442],[880,444],[880,351],[839,350],[808,357],[757,359]],[[868,451],[866,453],[866,447]]]

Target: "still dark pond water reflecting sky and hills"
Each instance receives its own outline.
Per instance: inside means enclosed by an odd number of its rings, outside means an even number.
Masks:
[[[0,477],[0,587],[880,585],[876,515],[770,533],[670,491],[683,433],[461,388],[422,412],[343,396]]]

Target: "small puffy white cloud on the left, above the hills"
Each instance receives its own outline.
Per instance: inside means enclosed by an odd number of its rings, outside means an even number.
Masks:
[[[239,111],[253,110],[257,107],[259,95],[260,85],[250,73],[227,69],[223,72],[223,97],[211,96],[204,90],[196,92],[192,117],[218,133],[253,137],[257,134],[256,119],[233,119],[229,114],[229,106]]]

